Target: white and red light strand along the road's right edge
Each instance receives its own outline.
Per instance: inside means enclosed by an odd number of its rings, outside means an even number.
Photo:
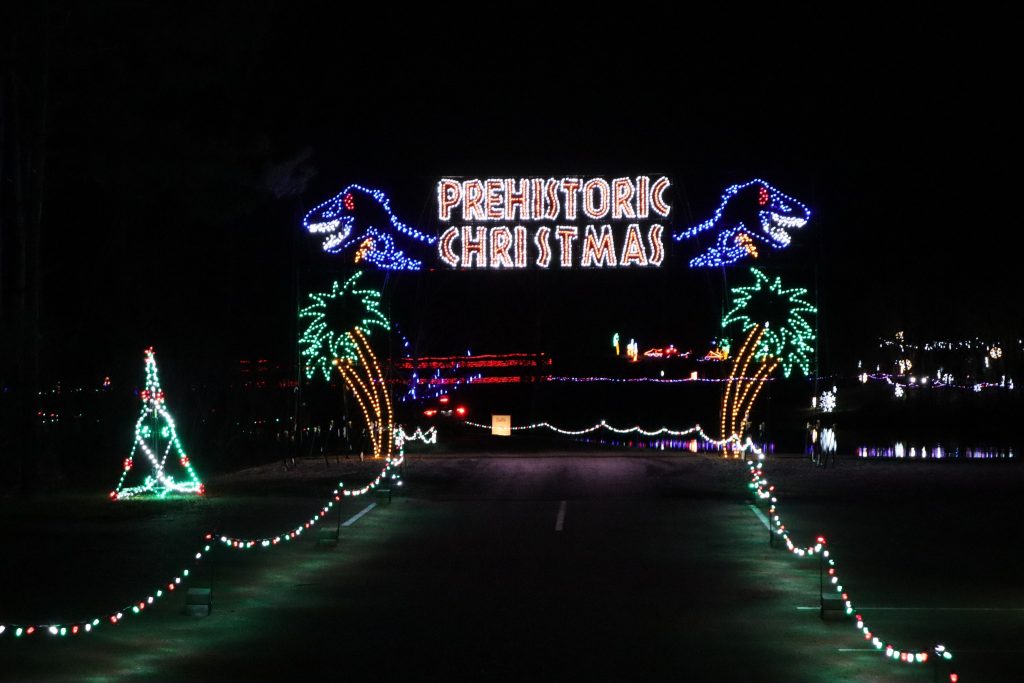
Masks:
[[[936,644],[931,652],[927,650],[901,650],[879,638],[867,627],[863,616],[854,609],[849,593],[844,590],[843,584],[840,582],[839,570],[836,567],[836,558],[827,549],[824,537],[819,536],[813,545],[807,547],[800,547],[793,542],[793,539],[790,538],[790,530],[782,523],[782,518],[778,511],[778,496],[775,493],[775,486],[768,483],[768,479],[764,474],[764,453],[749,438],[742,447],[743,451],[752,452],[756,456],[756,458],[751,458],[746,461],[746,466],[751,472],[751,483],[749,485],[759,499],[769,502],[768,519],[771,524],[772,533],[780,537],[785,543],[786,550],[797,557],[812,557],[820,554],[820,560],[827,566],[828,585],[842,599],[846,614],[848,616],[852,615],[855,618],[856,628],[862,634],[864,640],[868,641],[877,650],[885,652],[886,656],[906,664],[925,664],[932,654],[943,659],[951,659],[952,653],[944,645]]]

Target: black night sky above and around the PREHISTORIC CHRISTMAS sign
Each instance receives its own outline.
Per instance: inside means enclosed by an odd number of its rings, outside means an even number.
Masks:
[[[1021,333],[1006,17],[483,7],[5,9],[8,125],[15,80],[19,111],[45,102],[43,379],[137,372],[151,343],[287,360],[296,290],[339,271],[302,214],[362,182],[432,228],[441,175],[665,173],[677,229],[768,179],[815,212],[783,274],[817,283],[825,371],[900,329]],[[624,326],[696,346],[722,274],[690,255],[644,278],[398,274],[385,297],[421,352],[596,352]]]

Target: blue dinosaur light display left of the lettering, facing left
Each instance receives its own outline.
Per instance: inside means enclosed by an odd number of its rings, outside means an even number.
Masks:
[[[354,263],[383,270],[419,270],[423,261],[406,252],[437,239],[402,222],[380,189],[348,185],[302,219],[312,234],[323,234],[324,251],[337,254],[354,248]]]

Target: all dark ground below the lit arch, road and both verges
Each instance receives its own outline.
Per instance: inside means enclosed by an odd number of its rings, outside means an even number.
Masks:
[[[390,503],[332,511],[337,546],[313,530],[216,548],[191,577],[212,585],[210,616],[183,615],[178,591],[89,635],[5,633],[0,678],[948,680],[820,618],[818,561],[769,546],[741,461],[544,455],[414,455]],[[200,500],[2,499],[0,623],[102,617],[189,566],[206,530],[287,530],[380,466],[269,465]],[[877,635],[946,644],[964,681],[1020,680],[1016,463],[770,456],[766,474],[795,541],[827,537]]]

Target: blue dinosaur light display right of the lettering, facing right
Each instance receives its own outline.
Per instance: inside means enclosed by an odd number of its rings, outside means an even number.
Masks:
[[[716,231],[715,244],[690,259],[690,267],[717,267],[757,258],[762,245],[771,249],[788,247],[792,237],[787,230],[803,227],[810,218],[811,211],[804,204],[755,178],[728,187],[714,216],[672,237],[681,242],[708,230]]]

